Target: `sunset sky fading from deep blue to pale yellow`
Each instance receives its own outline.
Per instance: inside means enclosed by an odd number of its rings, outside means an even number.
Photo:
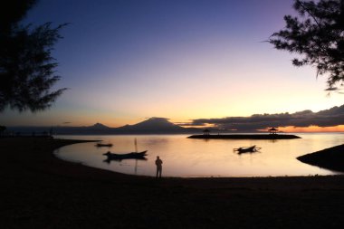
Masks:
[[[1,122],[119,127],[339,107],[344,95],[328,96],[326,77],[266,42],[292,2],[41,0],[24,24],[69,23],[53,51],[55,88],[69,90],[50,110],[5,110]]]

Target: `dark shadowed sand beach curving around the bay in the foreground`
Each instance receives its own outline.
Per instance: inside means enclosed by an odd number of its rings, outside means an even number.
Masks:
[[[133,177],[0,138],[1,228],[342,228],[344,177]]]

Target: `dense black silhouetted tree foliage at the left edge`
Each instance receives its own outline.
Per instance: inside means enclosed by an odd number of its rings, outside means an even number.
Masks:
[[[53,45],[60,39],[61,24],[34,27],[20,21],[35,0],[11,0],[2,5],[0,15],[0,111],[45,110],[65,89],[52,91],[60,77],[52,57]]]

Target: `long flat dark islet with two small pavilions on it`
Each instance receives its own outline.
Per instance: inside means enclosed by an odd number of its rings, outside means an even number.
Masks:
[[[187,138],[200,139],[295,139],[301,138],[290,134],[217,134],[217,135],[192,135]]]

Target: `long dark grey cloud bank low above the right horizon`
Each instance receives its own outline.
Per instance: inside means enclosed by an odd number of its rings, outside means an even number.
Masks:
[[[220,129],[252,131],[269,127],[333,127],[344,125],[344,105],[330,110],[312,112],[303,110],[295,113],[254,114],[250,117],[226,117],[223,119],[193,119],[194,126],[214,125]]]

